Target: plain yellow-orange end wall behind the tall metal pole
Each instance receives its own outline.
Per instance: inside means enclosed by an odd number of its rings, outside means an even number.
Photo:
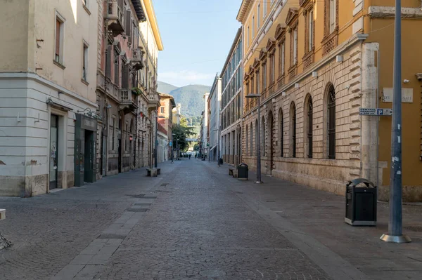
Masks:
[[[365,32],[369,33],[366,41],[380,44],[380,88],[381,90],[392,88],[394,19],[368,18],[365,23]],[[422,36],[415,36],[415,32],[418,32],[421,27],[421,20],[402,20],[402,80],[410,81],[409,84],[402,84],[402,87],[414,89],[413,103],[402,103],[403,185],[422,185],[422,161],[419,159],[421,156],[422,83],[415,76],[416,73],[422,72],[422,56],[420,55]],[[391,108],[392,103],[380,100],[380,107]],[[383,169],[383,185],[388,185],[391,163],[390,117],[381,117],[379,132],[380,161],[388,163],[388,168]]]

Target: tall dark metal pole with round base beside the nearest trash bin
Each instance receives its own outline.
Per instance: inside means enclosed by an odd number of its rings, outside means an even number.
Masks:
[[[381,240],[410,242],[402,234],[402,3],[395,1],[394,77],[391,129],[390,221]]]

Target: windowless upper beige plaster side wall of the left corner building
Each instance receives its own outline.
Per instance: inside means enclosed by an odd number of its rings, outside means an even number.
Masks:
[[[0,72],[27,72],[30,0],[0,1]]]

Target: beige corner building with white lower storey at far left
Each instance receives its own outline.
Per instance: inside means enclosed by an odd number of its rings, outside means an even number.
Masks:
[[[0,195],[94,182],[96,1],[1,1],[0,15]]]

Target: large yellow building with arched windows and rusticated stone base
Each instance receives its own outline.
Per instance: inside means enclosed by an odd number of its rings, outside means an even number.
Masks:
[[[378,123],[359,109],[391,108],[394,4],[242,1],[244,92],[262,95],[260,120],[257,100],[244,102],[243,161],[255,166],[260,143],[263,173],[338,194],[347,180],[367,178],[388,200],[391,117]],[[421,1],[402,6],[402,76],[409,80],[402,85],[403,197],[422,201],[422,39],[414,36]]]

